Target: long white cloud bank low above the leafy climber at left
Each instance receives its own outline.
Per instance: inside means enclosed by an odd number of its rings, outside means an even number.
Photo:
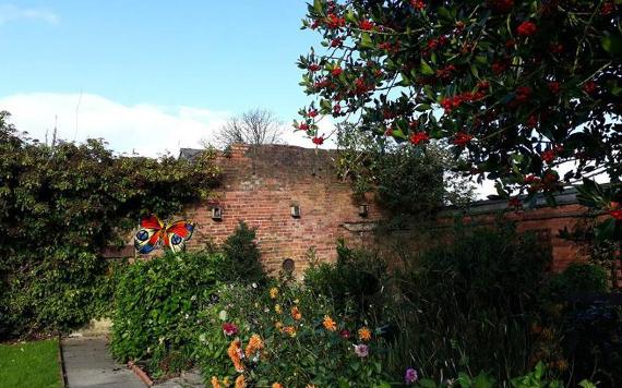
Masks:
[[[17,130],[31,137],[83,142],[106,140],[119,153],[177,155],[180,147],[199,147],[224,124],[228,112],[193,107],[125,106],[93,94],[32,93],[0,98]]]

